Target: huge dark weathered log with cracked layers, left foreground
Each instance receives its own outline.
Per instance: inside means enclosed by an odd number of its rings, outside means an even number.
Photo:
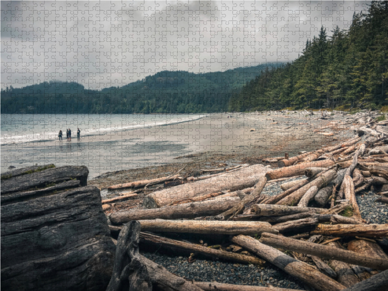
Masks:
[[[106,289],[115,246],[88,173],[50,166],[1,175],[4,290]]]

